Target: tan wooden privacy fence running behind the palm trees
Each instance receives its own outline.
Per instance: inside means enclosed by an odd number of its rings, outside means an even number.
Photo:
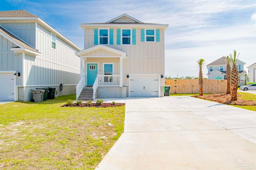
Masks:
[[[165,86],[171,86],[170,94],[199,94],[198,79],[166,79]],[[204,80],[204,94],[226,93],[227,80]]]

